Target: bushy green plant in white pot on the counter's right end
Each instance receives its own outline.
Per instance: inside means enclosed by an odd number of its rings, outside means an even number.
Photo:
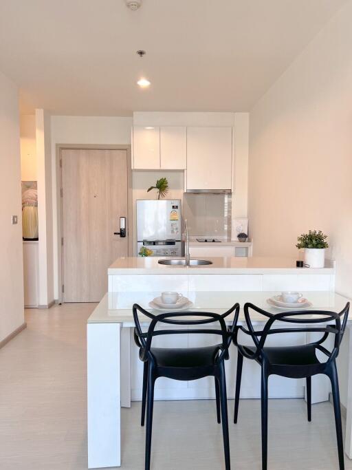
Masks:
[[[327,235],[319,231],[310,230],[303,233],[297,238],[296,247],[305,250],[305,264],[309,268],[324,268],[325,266],[325,249],[329,248],[327,243]]]

